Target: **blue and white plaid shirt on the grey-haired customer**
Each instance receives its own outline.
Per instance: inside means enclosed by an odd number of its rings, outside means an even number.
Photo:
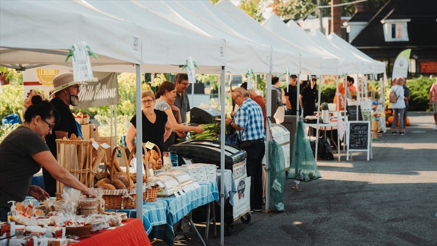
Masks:
[[[249,140],[264,140],[264,117],[261,107],[251,98],[247,98],[238,107],[234,116],[235,124],[244,127],[243,130],[236,130],[241,142]]]

